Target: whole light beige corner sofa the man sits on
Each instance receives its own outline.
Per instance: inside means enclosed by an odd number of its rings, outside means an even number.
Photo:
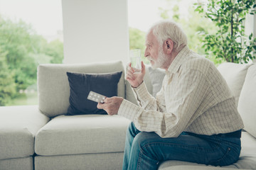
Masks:
[[[159,169],[256,169],[256,64],[224,63],[219,70],[239,99],[247,131],[242,132],[240,159],[225,167],[168,161]],[[124,80],[122,62],[39,66],[38,106],[0,107],[0,169],[122,169],[129,120],[119,115],[65,115],[70,96],[66,72],[119,71],[123,74],[118,96],[136,103]],[[159,90],[163,77],[160,69],[146,66],[145,82],[151,94]]]

